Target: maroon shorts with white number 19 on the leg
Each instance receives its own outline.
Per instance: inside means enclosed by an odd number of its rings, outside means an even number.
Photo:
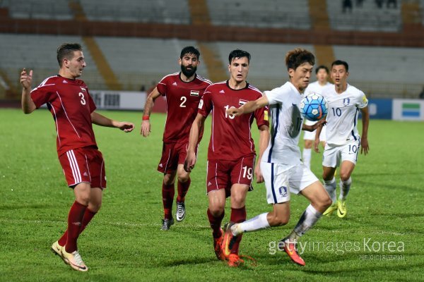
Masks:
[[[252,190],[252,179],[255,156],[242,157],[235,161],[208,160],[206,190],[225,189],[225,195],[231,195],[231,186],[244,184]]]

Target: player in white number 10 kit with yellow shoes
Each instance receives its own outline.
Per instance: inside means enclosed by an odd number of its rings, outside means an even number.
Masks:
[[[346,216],[346,196],[351,189],[351,174],[355,168],[360,148],[361,154],[368,153],[368,100],[364,92],[348,85],[349,66],[345,61],[334,61],[331,64],[331,79],[334,85],[325,87],[323,96],[329,103],[329,113],[326,116],[326,146],[322,161],[322,178],[324,188],[332,200],[331,207],[324,214],[331,215],[337,209],[338,217]],[[358,113],[362,114],[362,137],[358,134],[356,125]],[[314,149],[318,150],[319,134],[317,129]],[[336,201],[336,179],[334,172],[340,166],[340,196]]]

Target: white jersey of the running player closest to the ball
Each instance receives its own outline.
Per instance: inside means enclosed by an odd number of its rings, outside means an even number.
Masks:
[[[271,112],[271,140],[261,161],[293,166],[302,164],[298,143],[303,119],[299,105],[304,95],[291,82],[264,94]]]

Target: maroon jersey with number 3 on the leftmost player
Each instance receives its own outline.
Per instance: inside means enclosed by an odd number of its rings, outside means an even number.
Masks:
[[[31,91],[37,109],[47,104],[57,131],[57,154],[87,146],[95,146],[90,114],[95,110],[93,99],[83,80],[71,80],[60,75],[46,78]]]

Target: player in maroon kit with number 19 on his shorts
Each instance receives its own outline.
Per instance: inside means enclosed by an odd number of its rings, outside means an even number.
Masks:
[[[211,223],[213,247],[218,259],[227,259],[228,265],[238,266],[243,262],[238,255],[241,238],[232,247],[231,254],[225,257],[220,245],[223,230],[220,224],[224,217],[225,198],[231,196],[231,221],[242,222],[246,219],[245,200],[247,191],[252,187],[253,172],[257,182],[263,182],[259,165],[254,168],[256,156],[254,142],[250,134],[253,119],[256,119],[260,132],[259,159],[269,142],[269,121],[267,109],[261,108],[246,116],[226,114],[232,106],[239,107],[249,101],[262,97],[262,94],[247,83],[250,54],[234,50],[228,57],[230,79],[209,86],[199,104],[199,114],[190,131],[189,148],[184,169],[192,171],[196,163],[196,145],[203,130],[204,121],[212,113],[211,141],[208,149],[208,171],[206,186],[208,192],[208,219]]]

